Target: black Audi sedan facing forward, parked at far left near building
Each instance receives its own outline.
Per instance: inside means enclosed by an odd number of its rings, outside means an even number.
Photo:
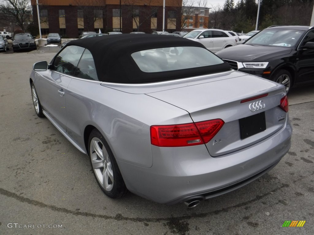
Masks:
[[[13,51],[17,50],[37,50],[35,37],[29,33],[15,34],[12,41]]]

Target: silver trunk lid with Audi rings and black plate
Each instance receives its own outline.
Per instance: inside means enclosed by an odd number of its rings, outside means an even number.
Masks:
[[[281,129],[287,117],[279,107],[284,87],[250,75],[147,95],[186,110],[194,122],[222,119],[225,124],[206,144],[211,156],[262,141]]]

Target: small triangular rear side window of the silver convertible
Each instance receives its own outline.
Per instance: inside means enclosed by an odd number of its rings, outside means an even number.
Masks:
[[[94,59],[89,50],[84,50],[84,53],[78,62],[74,76],[99,81],[96,73]]]

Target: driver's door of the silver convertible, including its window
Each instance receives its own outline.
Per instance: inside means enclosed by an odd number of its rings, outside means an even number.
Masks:
[[[67,124],[67,88],[83,51],[84,48],[74,45],[64,48],[55,56],[48,76],[39,80],[42,105],[50,118],[64,131]]]

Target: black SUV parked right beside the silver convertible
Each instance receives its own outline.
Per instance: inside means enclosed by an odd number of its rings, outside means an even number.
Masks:
[[[217,53],[233,69],[292,86],[314,83],[314,27],[263,29],[244,44]]]

